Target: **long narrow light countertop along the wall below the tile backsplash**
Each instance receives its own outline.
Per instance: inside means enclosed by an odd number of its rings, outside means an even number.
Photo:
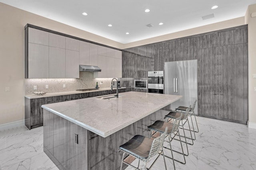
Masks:
[[[126,87],[121,87],[118,89],[124,89]],[[113,88],[114,90],[116,88]],[[89,92],[99,92],[99,91],[106,91],[106,90],[110,90],[110,88],[99,88],[98,90],[90,90],[90,91],[68,91],[68,92],[56,92],[56,93],[46,93],[42,96],[38,96],[36,94],[31,94],[31,95],[26,95],[25,98],[28,99],[36,99],[36,98],[47,98],[47,97],[53,97],[53,96],[63,96],[63,95],[70,95],[70,94],[80,94],[80,93],[89,93]]]

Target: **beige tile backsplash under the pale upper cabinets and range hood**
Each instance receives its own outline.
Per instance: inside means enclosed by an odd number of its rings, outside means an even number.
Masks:
[[[33,94],[33,92],[54,93],[95,88],[96,82],[100,88],[109,88],[111,80],[112,78],[93,78],[93,72],[79,72],[79,78],[25,79],[25,95]],[[63,88],[63,84],[66,85],[66,88]],[[48,89],[45,88],[46,85],[48,85]],[[37,90],[33,90],[34,86],[37,86]]]

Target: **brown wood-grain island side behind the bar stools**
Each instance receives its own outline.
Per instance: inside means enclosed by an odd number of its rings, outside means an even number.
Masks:
[[[156,120],[164,120],[164,115],[170,112],[170,105],[132,123],[120,131],[104,138],[89,131],[89,169],[120,169],[122,152],[117,152],[119,146],[126,143],[134,135],[150,137],[148,126]],[[123,164],[123,169],[127,165]]]

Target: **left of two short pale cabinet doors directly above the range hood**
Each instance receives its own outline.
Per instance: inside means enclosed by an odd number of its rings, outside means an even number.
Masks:
[[[79,41],[79,64],[90,65],[90,43]]]

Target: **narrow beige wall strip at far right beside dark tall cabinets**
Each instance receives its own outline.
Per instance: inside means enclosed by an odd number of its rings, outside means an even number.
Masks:
[[[256,17],[252,18],[251,14],[256,12],[256,4],[248,7],[248,78],[249,78],[249,127],[256,128]]]

